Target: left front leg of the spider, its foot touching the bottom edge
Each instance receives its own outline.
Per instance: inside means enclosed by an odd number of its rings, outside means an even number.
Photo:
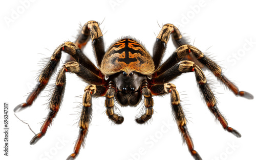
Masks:
[[[78,155],[81,145],[84,143],[84,139],[87,136],[90,119],[92,116],[92,96],[104,96],[106,93],[106,87],[101,85],[89,85],[84,89],[82,98],[82,112],[79,121],[79,135],[75,144],[74,152],[67,159],[75,159]]]

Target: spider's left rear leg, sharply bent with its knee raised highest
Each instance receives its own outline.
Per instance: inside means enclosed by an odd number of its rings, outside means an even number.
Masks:
[[[79,48],[83,48],[90,39],[90,36],[95,50],[97,64],[100,67],[102,58],[105,54],[105,47],[103,35],[100,31],[99,24],[96,21],[88,21],[86,24],[83,25],[82,31],[77,38],[75,44]]]

